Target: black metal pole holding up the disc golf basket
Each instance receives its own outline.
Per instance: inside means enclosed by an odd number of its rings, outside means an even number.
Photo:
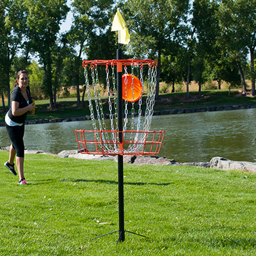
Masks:
[[[122,60],[122,49],[118,44],[118,50],[116,51],[116,60]],[[119,142],[123,142],[123,99],[122,99],[122,63],[117,63],[117,119]],[[124,158],[122,155],[118,155],[118,206],[119,206],[119,238],[118,241],[125,240],[124,230]]]

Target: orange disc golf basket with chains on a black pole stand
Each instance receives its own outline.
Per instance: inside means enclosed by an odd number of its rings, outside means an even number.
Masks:
[[[118,241],[124,241],[125,232],[129,231],[124,230],[123,156],[158,154],[164,131],[150,131],[156,97],[157,61],[122,60],[120,49],[117,59],[83,61],[93,129],[76,130],[76,138],[82,154],[118,155],[119,230],[114,232],[119,232]],[[104,72],[106,79],[106,97],[102,96],[99,70]],[[110,123],[108,128],[106,119]]]

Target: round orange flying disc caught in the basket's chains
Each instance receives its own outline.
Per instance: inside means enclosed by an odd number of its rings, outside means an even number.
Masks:
[[[127,78],[127,81],[126,79]],[[138,77],[131,75],[131,74],[124,74],[122,76],[122,82],[123,82],[123,93],[122,97],[124,100],[127,100],[129,102],[137,101],[140,99],[140,96],[142,95],[142,85],[140,82],[140,79]],[[125,84],[126,82],[126,84]],[[132,84],[133,82],[133,84]],[[133,85],[133,95],[132,95],[132,85]],[[127,90],[127,96],[125,95]]]

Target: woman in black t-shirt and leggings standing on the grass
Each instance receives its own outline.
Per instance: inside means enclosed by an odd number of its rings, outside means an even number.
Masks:
[[[24,128],[27,113],[34,115],[35,106],[33,106],[30,90],[28,86],[28,74],[26,70],[20,70],[17,73],[15,88],[12,90],[11,107],[5,116],[5,126],[8,135],[12,141],[10,147],[9,160],[4,166],[10,170],[13,175],[17,175],[14,168],[14,159],[16,157],[17,170],[19,173],[18,184],[27,184],[24,177]]]

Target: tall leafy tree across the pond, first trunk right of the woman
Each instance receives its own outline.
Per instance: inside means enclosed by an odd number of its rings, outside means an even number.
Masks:
[[[33,51],[38,52],[45,73],[45,94],[49,96],[50,109],[54,108],[53,52],[58,47],[60,24],[68,13],[67,0],[25,0],[28,8],[28,33]]]

